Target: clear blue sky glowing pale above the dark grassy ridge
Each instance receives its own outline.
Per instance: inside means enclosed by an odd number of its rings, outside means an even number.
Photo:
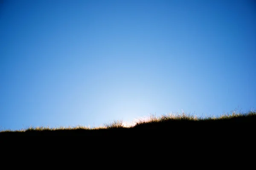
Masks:
[[[256,107],[253,0],[1,0],[0,129]]]

